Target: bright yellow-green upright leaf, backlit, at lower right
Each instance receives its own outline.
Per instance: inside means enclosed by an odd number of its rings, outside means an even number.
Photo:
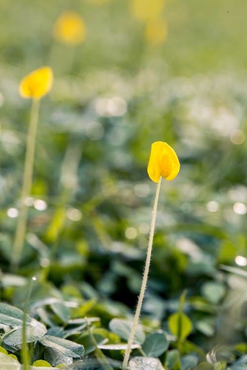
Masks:
[[[173,313],[168,318],[168,326],[179,339],[185,339],[192,331],[192,323],[184,313]]]

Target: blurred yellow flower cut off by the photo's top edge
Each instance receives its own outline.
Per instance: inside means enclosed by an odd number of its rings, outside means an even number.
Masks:
[[[130,0],[131,13],[140,21],[159,18],[165,5],[164,0]]]

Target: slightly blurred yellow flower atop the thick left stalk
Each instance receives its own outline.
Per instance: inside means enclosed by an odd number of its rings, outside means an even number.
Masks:
[[[23,98],[40,99],[50,91],[52,82],[52,69],[50,67],[41,67],[21,80],[19,93]]]

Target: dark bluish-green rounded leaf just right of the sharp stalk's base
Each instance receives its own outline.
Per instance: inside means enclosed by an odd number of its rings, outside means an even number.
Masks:
[[[159,357],[166,351],[168,345],[165,333],[152,333],[146,337],[142,350],[146,356]]]

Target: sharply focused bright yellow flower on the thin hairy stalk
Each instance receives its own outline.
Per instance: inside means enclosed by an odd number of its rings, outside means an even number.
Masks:
[[[179,169],[178,157],[168,144],[162,141],[156,141],[152,144],[148,162],[148,175],[151,180],[158,183],[161,176],[167,181],[173,180]]]

